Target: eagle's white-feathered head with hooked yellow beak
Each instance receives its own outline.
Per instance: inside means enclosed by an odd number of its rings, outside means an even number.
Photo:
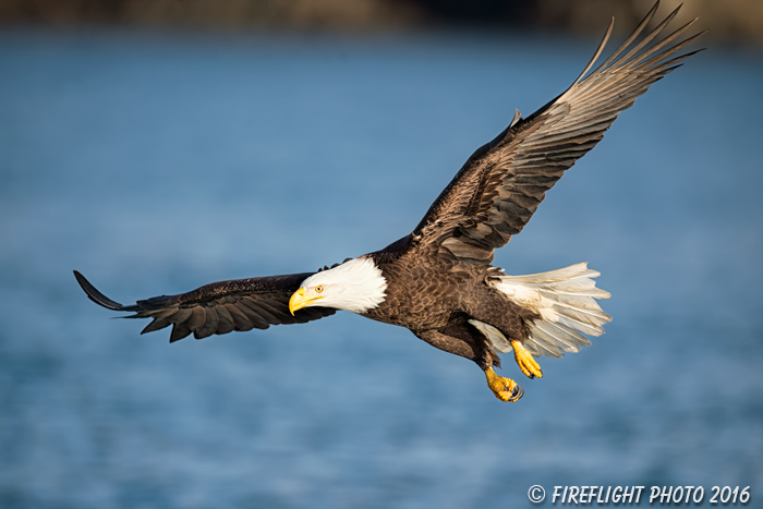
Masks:
[[[314,274],[289,300],[289,311],[310,306],[365,313],[386,296],[387,280],[373,259],[361,256],[328,270]]]

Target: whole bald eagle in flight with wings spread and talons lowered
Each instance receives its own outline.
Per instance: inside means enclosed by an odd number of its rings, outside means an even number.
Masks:
[[[413,231],[380,251],[317,272],[220,281],[133,305],[108,299],[75,270],[76,280],[95,303],[134,313],[125,317],[153,318],[142,334],[171,325],[170,342],[350,311],[407,327],[433,347],[474,361],[498,399],[517,401],[522,387],[493,369],[500,367],[498,354],[513,351],[524,375],[542,377],[535,357],[577,352],[591,344],[584,335],[604,334],[611,318],[595,300],[609,293],[596,288],[600,274],[586,263],[509,276],[491,265],[494,250],[522,231],[546,191],[602,140],[620,111],[697,52],[673,57],[702,35],[673,44],[697,20],[652,44],[678,9],[640,37],[658,3],[589,73],[613,19],[572,85],[526,119],[517,111],[508,128],[467,160]]]

